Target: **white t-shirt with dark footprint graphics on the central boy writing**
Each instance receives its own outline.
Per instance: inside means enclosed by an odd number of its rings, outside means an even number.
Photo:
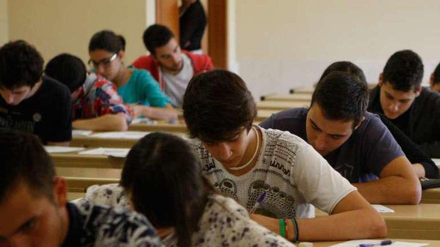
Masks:
[[[261,151],[256,165],[242,176],[228,173],[199,140],[192,140],[203,174],[247,210],[266,192],[256,214],[277,219],[313,218],[313,206],[330,214],[342,198],[356,190],[299,137],[255,127],[262,133]]]

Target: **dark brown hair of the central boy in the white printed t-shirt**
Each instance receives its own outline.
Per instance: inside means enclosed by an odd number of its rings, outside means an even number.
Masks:
[[[256,106],[244,81],[226,70],[194,76],[183,96],[183,118],[191,138],[202,142],[230,141],[252,127]]]

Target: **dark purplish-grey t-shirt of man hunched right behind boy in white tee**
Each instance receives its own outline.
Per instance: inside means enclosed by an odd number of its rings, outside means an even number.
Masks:
[[[289,131],[307,141],[307,112],[307,108],[285,110],[272,114],[259,125]],[[324,158],[350,183],[358,183],[377,179],[382,169],[399,156],[404,154],[379,116],[366,112],[348,140]]]

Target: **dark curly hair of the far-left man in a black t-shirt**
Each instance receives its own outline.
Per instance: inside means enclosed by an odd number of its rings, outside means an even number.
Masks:
[[[41,79],[44,60],[24,40],[10,41],[0,48],[0,87],[33,87]]]

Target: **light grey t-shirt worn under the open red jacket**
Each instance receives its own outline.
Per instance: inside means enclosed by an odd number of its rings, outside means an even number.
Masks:
[[[183,68],[176,75],[165,73],[162,70],[162,79],[165,83],[165,94],[168,96],[171,104],[181,108],[183,104],[183,94],[185,94],[186,86],[194,74],[191,59],[182,53]]]

